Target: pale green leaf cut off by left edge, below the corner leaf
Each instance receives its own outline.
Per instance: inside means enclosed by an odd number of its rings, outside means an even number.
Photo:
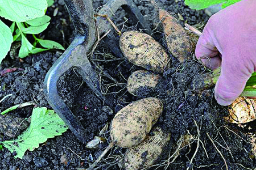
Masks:
[[[11,43],[13,42],[13,33],[11,29],[0,20],[0,64],[11,49]]]

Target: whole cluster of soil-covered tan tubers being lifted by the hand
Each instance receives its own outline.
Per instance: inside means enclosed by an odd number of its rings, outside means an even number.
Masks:
[[[151,2],[154,3],[153,0]],[[153,4],[154,5],[154,4]],[[156,5],[154,5],[156,7]],[[180,62],[189,59],[195,48],[195,36],[193,40],[185,29],[167,11],[158,8],[159,20],[163,26],[168,51]],[[154,89],[162,79],[162,73],[170,68],[171,58],[159,42],[150,35],[138,31],[127,31],[120,39],[120,49],[123,56],[131,63],[141,66],[146,70],[137,70],[127,80],[127,91],[138,96],[141,89]],[[200,75],[195,78],[194,91],[199,93],[213,87],[217,82],[220,69]],[[232,123],[246,123],[256,119],[256,100],[239,97],[229,108],[230,116],[225,119]],[[171,139],[170,133],[165,133],[156,124],[163,112],[163,103],[155,97],[148,97],[130,103],[122,108],[113,118],[110,127],[112,143],[102,153],[114,145],[127,148],[125,152],[124,168],[126,170],[147,169],[159,158],[164,147]],[[154,135],[148,135],[148,133]],[[186,145],[185,141],[180,142]],[[181,146],[181,145],[180,145]],[[145,154],[146,153],[146,154]],[[89,168],[92,169],[102,156]]]

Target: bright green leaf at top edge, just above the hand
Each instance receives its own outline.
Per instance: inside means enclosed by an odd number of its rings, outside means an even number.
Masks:
[[[195,10],[202,10],[212,5],[219,3],[222,4],[222,8],[225,8],[233,3],[236,3],[241,0],[185,0],[185,5],[188,5],[190,8]]]

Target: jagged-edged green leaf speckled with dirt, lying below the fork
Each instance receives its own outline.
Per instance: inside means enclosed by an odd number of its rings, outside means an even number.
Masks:
[[[16,152],[15,158],[22,159],[27,150],[33,151],[44,143],[48,138],[54,138],[67,131],[67,126],[63,120],[47,108],[35,108],[31,116],[31,124],[14,141],[1,142],[10,152]]]

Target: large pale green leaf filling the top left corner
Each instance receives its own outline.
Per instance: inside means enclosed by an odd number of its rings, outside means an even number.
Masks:
[[[26,22],[46,13],[47,0],[0,0],[0,15],[14,22]]]

